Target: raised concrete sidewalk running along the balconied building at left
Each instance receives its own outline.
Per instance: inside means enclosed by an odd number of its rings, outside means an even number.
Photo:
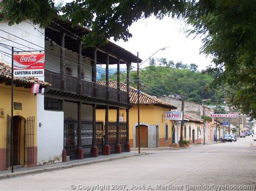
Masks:
[[[0,180],[14,178],[17,176],[22,176],[22,175],[43,173],[43,172],[49,172],[49,171],[56,171],[59,169],[66,169],[66,168],[72,168],[72,167],[77,167],[77,166],[90,165],[90,164],[95,164],[98,162],[117,160],[117,159],[129,158],[129,157],[136,157],[138,155],[143,155],[143,154],[146,154],[146,152],[139,154],[138,152],[132,151],[132,152],[123,152],[120,154],[99,155],[99,157],[97,157],[97,158],[92,157],[92,158],[85,158],[82,160],[71,160],[69,162],[58,162],[58,163],[49,164],[49,165],[41,165],[41,166],[28,167],[28,168],[23,168],[23,167],[16,168],[16,169],[14,169],[14,173],[11,173],[11,170],[0,171]]]

